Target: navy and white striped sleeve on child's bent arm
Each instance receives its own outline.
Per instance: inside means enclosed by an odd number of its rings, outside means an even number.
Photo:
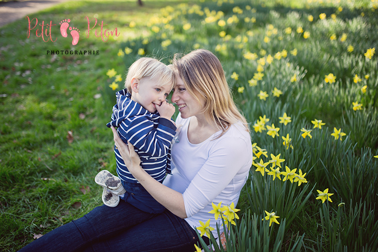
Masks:
[[[128,125],[122,121],[117,131],[124,142],[129,141],[136,149],[152,157],[167,155],[175,135],[173,129],[161,123],[155,128],[148,115],[135,116]]]

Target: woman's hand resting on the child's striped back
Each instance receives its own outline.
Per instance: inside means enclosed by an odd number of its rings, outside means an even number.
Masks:
[[[124,164],[128,167],[131,173],[141,169],[141,159],[134,150],[134,146],[128,142],[128,144],[123,143],[120,137],[117,134],[117,131],[114,127],[110,127],[113,132],[114,144],[121,155]]]

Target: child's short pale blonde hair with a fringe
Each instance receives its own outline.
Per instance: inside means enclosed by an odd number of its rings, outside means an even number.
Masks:
[[[175,83],[175,75],[171,67],[166,66],[156,58],[142,57],[135,61],[129,68],[124,88],[127,88],[129,93],[132,93],[131,80],[136,78],[141,80],[143,78],[156,79],[157,85],[169,85],[173,88]]]

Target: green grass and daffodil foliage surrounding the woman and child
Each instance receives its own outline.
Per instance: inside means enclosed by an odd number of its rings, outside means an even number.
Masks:
[[[251,123],[252,141],[266,150],[267,156],[255,162],[269,162],[270,154],[281,154],[285,159],[281,172],[288,166],[306,173],[307,183],[298,186],[263,177],[252,166],[238,204],[243,217],[228,237],[228,250],[336,251],[344,246],[376,250],[378,159],[373,156],[378,155],[378,65],[376,54],[367,59],[364,53],[378,48],[374,9],[378,3],[169,2],[173,8],[166,7],[167,2],[144,3],[139,8],[134,1],[68,2],[30,17],[55,24],[70,18],[70,25],[81,30],[75,46],[70,35],[60,36],[58,26],[52,31],[57,38],[53,43],[33,32],[27,38],[27,20],[0,28],[1,250],[18,250],[34,235],[101,204],[94,176],[100,169],[115,171],[112,136],[105,127],[115,92],[109,87],[114,78],[108,78],[107,71],[114,69],[124,79],[125,70],[140,57],[139,49],[169,63],[173,53],[193,48],[209,49],[220,58],[234,100]],[[324,20],[319,17],[322,13],[327,16]],[[110,30],[116,27],[120,36],[103,42],[93,29],[87,37],[85,17],[104,21]],[[230,18],[232,22],[227,22]],[[219,26],[219,20],[226,25]],[[130,27],[132,21],[135,27]],[[191,26],[184,29],[187,23]],[[286,33],[288,27],[292,31]],[[298,33],[298,27],[303,32]],[[307,39],[305,31],[310,33]],[[335,40],[330,39],[333,34]],[[264,42],[266,37],[269,42]],[[348,45],[354,46],[352,52]],[[125,47],[132,52],[122,56]],[[100,54],[46,53],[63,49]],[[256,53],[256,58],[246,58],[248,52]],[[273,61],[263,66],[262,79],[250,85],[259,60],[267,60],[268,54]],[[238,79],[231,77],[233,72]],[[325,82],[330,73],[336,76],[335,83]],[[291,81],[294,75],[296,80]],[[353,81],[355,75],[360,82]],[[272,95],[274,88],[282,91],[279,97]],[[258,98],[260,91],[269,94],[266,101]],[[361,110],[352,109],[355,101],[362,104]],[[283,113],[291,117],[287,125],[279,122]],[[253,126],[264,115],[270,119],[266,125],[280,128],[279,136],[255,132]],[[313,128],[315,118],[326,125]],[[301,136],[303,128],[312,130],[311,139]],[[334,128],[346,133],[343,141],[331,136]],[[293,149],[283,145],[287,134]],[[334,194],[333,202],[322,204],[316,200],[317,190],[326,188]],[[280,225],[269,227],[269,222],[261,221],[265,211],[280,216]]]

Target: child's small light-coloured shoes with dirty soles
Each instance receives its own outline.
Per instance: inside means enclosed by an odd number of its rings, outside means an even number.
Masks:
[[[119,203],[118,195],[123,195],[126,192],[119,177],[107,170],[102,170],[96,175],[95,182],[104,187],[102,202],[106,206],[116,207]]]

